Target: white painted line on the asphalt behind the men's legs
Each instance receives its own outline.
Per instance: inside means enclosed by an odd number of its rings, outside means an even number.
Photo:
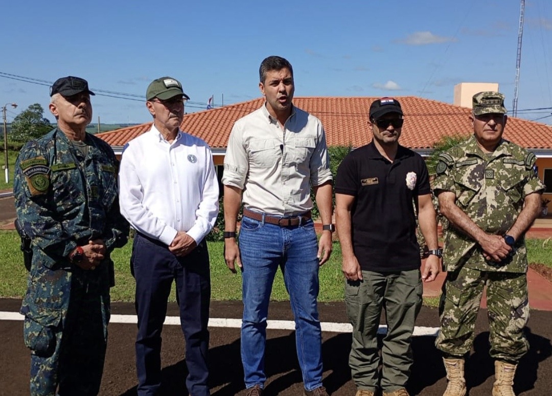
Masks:
[[[23,315],[19,312],[4,312],[0,311],[0,320],[23,320]],[[111,315],[109,323],[126,323],[136,324],[138,323],[138,317],[136,315]],[[180,325],[180,318],[177,316],[168,316],[165,319],[166,325]],[[353,327],[349,323],[332,323],[322,322],[322,331],[328,331],[331,333],[351,333]],[[241,319],[226,319],[226,318],[210,318],[209,327],[224,327],[239,329],[241,328]],[[269,330],[295,330],[295,322],[293,320],[267,320],[267,329]],[[415,336],[437,336],[439,332],[438,327],[424,327],[416,326],[414,328]],[[387,326],[380,325],[378,334],[386,334]]]

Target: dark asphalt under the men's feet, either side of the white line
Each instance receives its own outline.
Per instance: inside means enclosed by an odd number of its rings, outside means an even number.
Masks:
[[[17,312],[20,301],[0,299],[0,311]],[[466,365],[469,395],[490,395],[493,362],[489,357],[489,332],[486,310],[477,319],[474,348]],[[114,303],[112,314],[134,314],[129,303]],[[169,305],[168,315],[178,315],[176,304]],[[211,318],[240,318],[241,302],[213,302]],[[273,302],[269,319],[291,320],[289,302]],[[343,302],[321,303],[320,319],[324,322],[348,323]],[[519,365],[514,390],[518,395],[549,395],[552,389],[552,312],[534,311],[527,335],[529,354]],[[383,319],[383,323],[384,323]],[[0,320],[0,395],[28,394],[29,352],[22,339],[19,320]],[[438,326],[437,310],[423,307],[417,326]],[[210,386],[216,396],[244,395],[243,371],[240,361],[240,330],[213,327],[211,342]],[[109,343],[100,395],[136,395],[134,365],[135,324],[109,325]],[[411,395],[441,396],[446,388],[441,357],[434,347],[434,336],[416,336],[412,347],[415,357],[408,383]],[[348,367],[351,333],[323,332],[323,382],[334,396],[353,395],[355,386]],[[162,344],[162,395],[187,395],[184,381],[187,375],[184,360],[184,338],[178,325],[165,325]],[[301,395],[301,372],[295,353],[294,330],[268,330],[266,349],[268,381],[263,395]]]

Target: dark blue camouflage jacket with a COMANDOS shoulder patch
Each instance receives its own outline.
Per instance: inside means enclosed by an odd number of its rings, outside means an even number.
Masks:
[[[103,266],[82,271],[71,265],[67,256],[77,245],[103,239],[110,252],[128,238],[128,223],[119,212],[115,154],[88,133],[86,142],[84,156],[65,133],[54,129],[26,143],[15,163],[15,209],[33,241],[25,300],[41,300],[52,309],[66,308],[73,273],[108,282]]]

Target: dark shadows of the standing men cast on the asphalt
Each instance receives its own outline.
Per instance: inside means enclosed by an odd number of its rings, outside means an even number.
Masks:
[[[530,349],[518,366],[514,381],[516,394],[535,388],[539,363],[552,355],[552,345],[549,339],[533,334],[530,328],[526,328],[526,331]],[[379,338],[380,346],[381,341],[382,339]],[[433,336],[419,336],[412,341],[414,365],[408,382],[408,391],[412,395],[423,394],[424,389],[434,387],[445,377],[442,357],[434,346],[434,342]],[[351,381],[351,370],[348,365],[350,350],[351,334],[349,333],[332,335],[326,338],[322,344],[324,385],[330,394]],[[211,370],[209,386],[213,396],[243,393],[245,385],[240,357],[240,340],[214,347],[209,351],[209,360]],[[302,385],[301,370],[295,352],[294,332],[267,340],[265,372],[268,381],[263,395],[285,394],[290,388],[297,389],[298,384]],[[187,375],[185,360],[163,368],[160,394],[188,395],[185,387]],[[466,363],[466,384],[468,389],[477,388],[493,377],[494,363],[489,356],[489,331],[485,331],[478,334],[474,340],[474,351]],[[121,396],[135,395],[136,387],[121,394]]]

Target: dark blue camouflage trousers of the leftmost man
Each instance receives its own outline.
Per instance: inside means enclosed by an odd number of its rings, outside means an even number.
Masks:
[[[59,313],[61,323],[56,327],[47,326],[47,319],[36,312],[25,318],[31,396],[99,393],[107,348],[109,289],[100,291],[86,282],[78,283],[73,277],[67,311]]]

